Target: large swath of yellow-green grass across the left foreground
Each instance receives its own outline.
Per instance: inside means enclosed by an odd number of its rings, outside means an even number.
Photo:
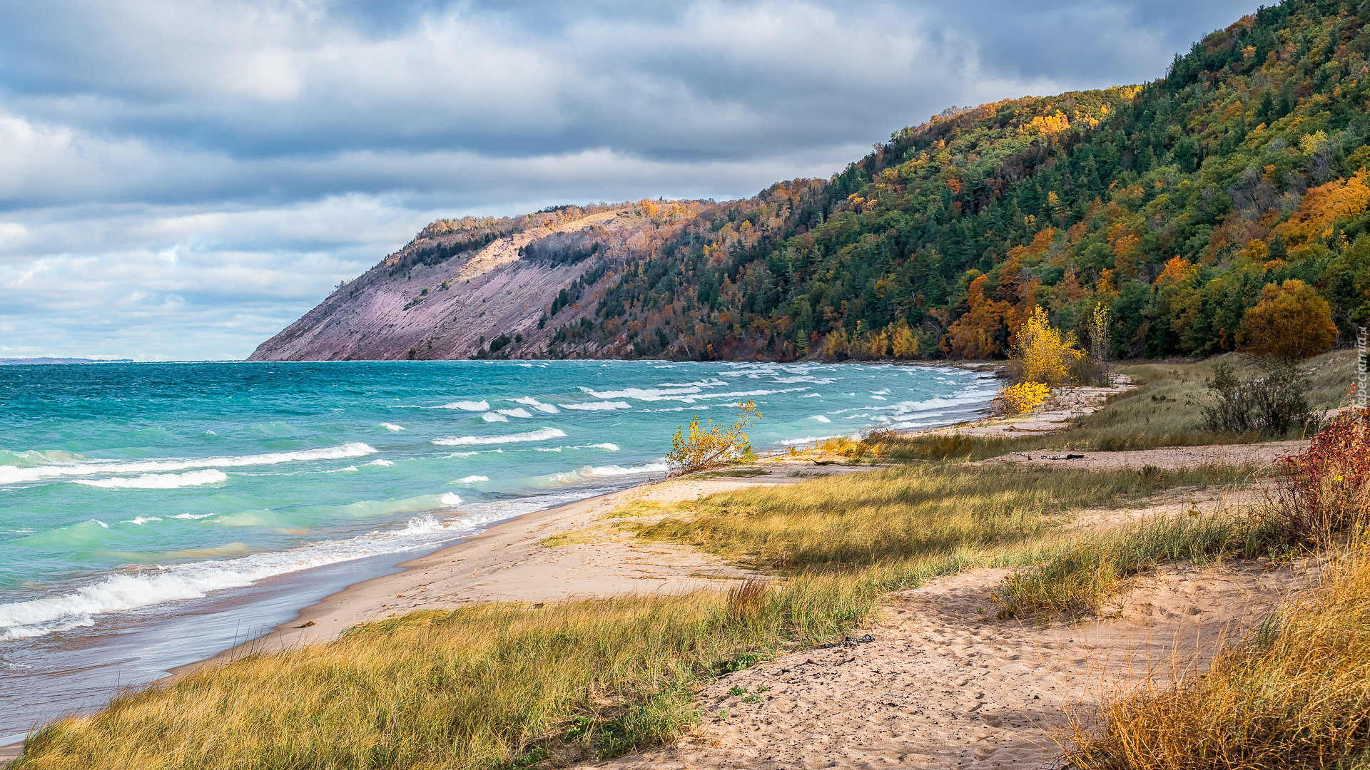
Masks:
[[[612,756],[695,722],[697,682],[840,638],[880,593],[815,577],[414,612],[62,719],[12,767],[464,770]]]

